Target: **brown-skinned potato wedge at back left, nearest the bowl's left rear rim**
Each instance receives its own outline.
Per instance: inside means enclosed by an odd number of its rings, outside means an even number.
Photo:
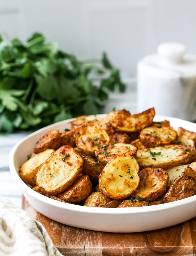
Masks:
[[[58,129],[51,130],[44,134],[42,138],[38,140],[38,143],[34,145],[33,152],[40,153],[48,148],[58,149],[61,144],[61,133]]]

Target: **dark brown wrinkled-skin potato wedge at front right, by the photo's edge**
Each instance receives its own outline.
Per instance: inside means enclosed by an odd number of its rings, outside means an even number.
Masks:
[[[196,195],[195,179],[195,171],[188,166],[169,188],[163,198],[163,202],[169,203]]]

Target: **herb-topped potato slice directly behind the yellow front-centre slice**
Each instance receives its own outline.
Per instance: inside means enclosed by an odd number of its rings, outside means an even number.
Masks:
[[[115,158],[116,156],[135,155],[136,151],[137,148],[131,144],[110,143],[98,148],[95,151],[95,156],[101,163],[107,164],[111,159]]]

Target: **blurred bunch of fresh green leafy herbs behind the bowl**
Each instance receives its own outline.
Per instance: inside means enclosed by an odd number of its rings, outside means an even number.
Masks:
[[[0,36],[1,134],[97,114],[109,91],[125,90],[105,53],[98,64],[81,62],[45,39],[34,33],[25,44],[17,38],[7,44]]]

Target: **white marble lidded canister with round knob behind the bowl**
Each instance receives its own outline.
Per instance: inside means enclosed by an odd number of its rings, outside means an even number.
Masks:
[[[137,110],[196,120],[196,56],[180,43],[163,43],[137,65]]]

